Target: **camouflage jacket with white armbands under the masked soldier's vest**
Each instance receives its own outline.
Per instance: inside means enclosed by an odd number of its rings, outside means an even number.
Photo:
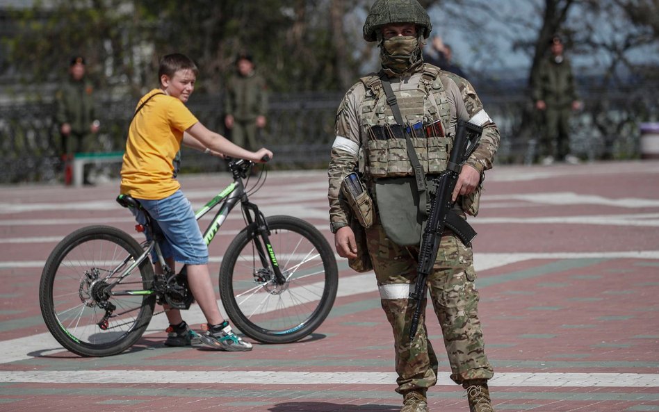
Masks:
[[[391,79],[391,85],[394,90],[402,87],[416,88],[419,79],[421,79],[421,74],[416,73],[405,81]],[[443,83],[450,103],[448,135],[455,133],[458,119],[469,120],[484,127],[480,146],[466,162],[482,174],[492,167],[494,154],[498,149],[500,136],[496,124],[483,110],[482,103],[469,81],[444,71],[439,72],[437,80]],[[369,138],[361,120],[365,94],[364,83],[361,81],[355,83],[343,97],[336,113],[336,138],[332,145],[330,165],[327,171],[330,179],[327,196],[330,201],[330,222],[334,224],[335,228],[345,226],[350,221],[348,204],[339,200],[341,181],[348,173],[357,169],[364,143]],[[430,95],[425,98],[433,99]],[[368,168],[359,165],[359,169],[365,171],[364,177],[365,180],[368,180]]]

